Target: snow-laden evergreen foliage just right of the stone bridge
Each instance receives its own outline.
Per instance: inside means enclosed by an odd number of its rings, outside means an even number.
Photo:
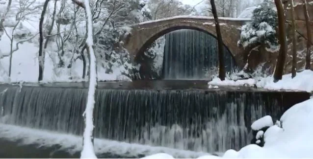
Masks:
[[[238,45],[243,47],[264,44],[269,50],[278,49],[275,28],[277,11],[272,0],[264,0],[253,10],[251,22],[242,26]]]

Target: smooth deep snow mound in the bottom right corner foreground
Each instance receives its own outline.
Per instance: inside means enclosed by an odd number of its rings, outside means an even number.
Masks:
[[[269,126],[270,117],[258,120],[254,126]],[[264,134],[264,146],[250,144],[239,151],[228,150],[222,157],[206,155],[199,159],[217,158],[313,158],[313,99],[298,103],[288,109],[280,118],[281,124],[270,126]],[[170,158],[155,154],[149,159]]]

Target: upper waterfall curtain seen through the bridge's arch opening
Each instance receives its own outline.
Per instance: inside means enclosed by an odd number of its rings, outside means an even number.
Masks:
[[[183,29],[166,34],[165,39],[165,79],[208,79],[209,71],[218,67],[217,41],[213,36]],[[234,68],[234,59],[225,46],[224,61],[226,71]]]

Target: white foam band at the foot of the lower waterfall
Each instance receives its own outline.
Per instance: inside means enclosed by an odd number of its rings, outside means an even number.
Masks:
[[[59,150],[67,151],[71,154],[79,152],[82,149],[82,136],[61,134],[52,131],[0,124],[0,136],[10,141],[19,141],[22,145],[38,144],[40,147],[60,145]],[[199,156],[208,155],[208,153],[204,152],[130,144],[99,138],[95,139],[94,145],[96,154],[112,153],[126,157],[139,155],[147,156],[156,153],[166,153],[175,158],[197,158]]]

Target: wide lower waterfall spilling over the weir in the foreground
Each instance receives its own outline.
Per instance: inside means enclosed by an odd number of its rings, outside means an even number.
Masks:
[[[251,122],[281,115],[276,92],[98,90],[95,136],[184,150],[238,150]],[[82,135],[87,90],[0,85],[1,122]],[[250,137],[249,137],[250,136]]]

